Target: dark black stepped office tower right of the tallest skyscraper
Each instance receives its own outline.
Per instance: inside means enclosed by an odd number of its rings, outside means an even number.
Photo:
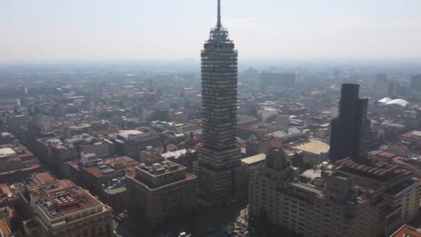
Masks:
[[[367,107],[368,98],[359,98],[359,85],[342,85],[339,116],[332,119],[330,132],[331,160],[346,157],[364,160],[367,157],[370,132]]]

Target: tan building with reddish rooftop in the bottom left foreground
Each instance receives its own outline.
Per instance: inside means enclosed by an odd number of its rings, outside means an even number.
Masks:
[[[33,219],[24,221],[25,236],[114,236],[111,208],[73,182],[38,173],[28,185]]]

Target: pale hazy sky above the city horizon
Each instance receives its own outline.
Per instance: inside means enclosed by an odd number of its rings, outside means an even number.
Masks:
[[[0,61],[199,59],[217,0],[0,0]],[[421,0],[222,0],[243,59],[421,56]]]

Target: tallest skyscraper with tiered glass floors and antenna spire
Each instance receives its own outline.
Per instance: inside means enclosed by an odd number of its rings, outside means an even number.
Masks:
[[[194,172],[199,194],[222,203],[235,191],[235,167],[240,166],[237,128],[237,57],[228,30],[221,23],[217,1],[217,24],[201,51],[201,112],[203,146],[198,150]]]

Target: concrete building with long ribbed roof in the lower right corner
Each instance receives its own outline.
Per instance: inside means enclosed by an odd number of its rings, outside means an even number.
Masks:
[[[373,236],[388,236],[420,213],[421,185],[411,170],[383,161],[359,164],[349,157],[333,169],[355,177],[375,211]]]

